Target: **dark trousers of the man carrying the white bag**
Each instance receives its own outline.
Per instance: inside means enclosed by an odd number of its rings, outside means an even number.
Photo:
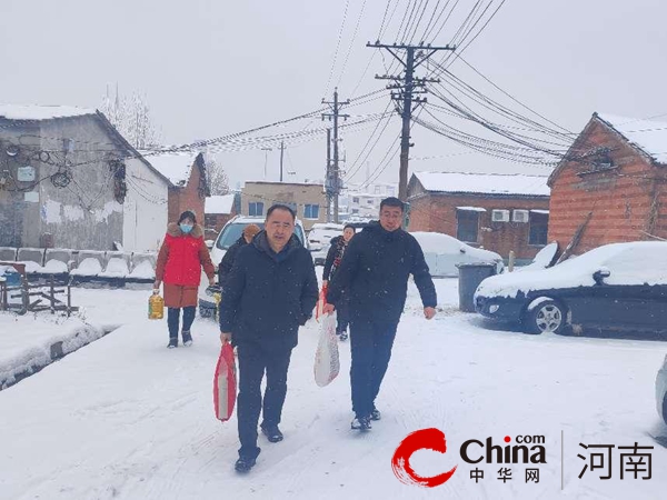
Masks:
[[[391,359],[398,322],[352,318],[350,347],[352,366],[352,411],[358,417],[370,414]]]

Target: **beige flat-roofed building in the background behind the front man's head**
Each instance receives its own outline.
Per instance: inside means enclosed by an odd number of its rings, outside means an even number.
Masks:
[[[321,183],[246,182],[241,190],[241,214],[266,216],[273,203],[295,210],[306,231],[327,219],[327,198]]]

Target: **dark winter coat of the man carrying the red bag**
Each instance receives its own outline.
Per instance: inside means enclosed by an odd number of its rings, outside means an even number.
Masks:
[[[268,349],[297,346],[299,326],[312,316],[318,299],[310,253],[296,236],[279,253],[266,231],[237,253],[222,289],[220,331],[233,343],[261,343]]]

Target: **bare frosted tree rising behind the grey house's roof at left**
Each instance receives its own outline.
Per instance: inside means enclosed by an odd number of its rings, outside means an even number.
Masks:
[[[130,99],[118,93],[111,98],[109,88],[102,100],[102,112],[122,137],[137,149],[148,149],[159,144],[158,132],[152,123],[150,108],[138,92]]]

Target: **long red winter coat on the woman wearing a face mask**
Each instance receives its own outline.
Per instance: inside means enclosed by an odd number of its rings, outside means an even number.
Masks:
[[[210,279],[215,276],[211,256],[203,242],[203,229],[196,224],[189,234],[172,222],[158,254],[156,279],[165,283],[165,306],[197,306],[201,267]]]

